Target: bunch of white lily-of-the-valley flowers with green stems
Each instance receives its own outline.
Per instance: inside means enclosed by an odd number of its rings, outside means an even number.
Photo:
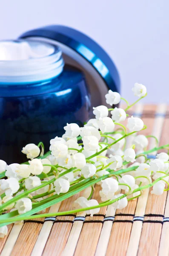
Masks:
[[[93,215],[100,207],[110,204],[123,209],[148,187],[152,187],[152,194],[163,193],[169,186],[169,155],[161,152],[153,160],[148,155],[158,149],[169,149],[169,144],[146,151],[147,137],[151,135],[136,134],[146,129],[146,125],[140,118],[126,113],[146,96],[146,87],[136,83],[132,91],[139,99],[129,105],[119,93],[109,90],[106,103],[111,108],[103,105],[93,108],[95,118],[84,127],[67,123],[65,134],[50,140],[50,151],[46,154],[43,143],[31,143],[22,150],[30,159],[28,162],[7,165],[0,160],[0,213],[3,213],[0,237],[7,234],[6,222],[22,221],[25,216],[34,218],[32,214],[84,189],[88,192],[84,190],[84,196],[77,198],[71,213],[86,211]],[[125,109],[118,108],[120,100],[125,100]],[[126,148],[126,137],[132,139],[131,148]],[[100,204],[92,198],[96,183],[100,185]],[[12,213],[6,215],[9,209]],[[37,214],[36,218],[40,216]]]

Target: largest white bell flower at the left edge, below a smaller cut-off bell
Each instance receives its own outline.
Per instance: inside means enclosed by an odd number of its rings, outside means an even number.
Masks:
[[[7,180],[4,180],[4,179],[1,180],[0,188],[2,190],[5,190],[6,195],[13,195],[14,193],[16,193],[18,191],[20,186],[19,186],[18,180],[11,177]]]

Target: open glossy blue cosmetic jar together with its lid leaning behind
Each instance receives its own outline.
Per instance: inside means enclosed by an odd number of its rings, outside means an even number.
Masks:
[[[36,73],[33,79],[24,74],[24,79],[18,76],[17,80],[10,72],[7,72],[9,80],[0,76],[0,159],[8,164],[25,160],[21,149],[28,143],[43,141],[47,151],[50,139],[64,133],[66,122],[82,126],[92,118],[92,107],[106,104],[105,94],[109,89],[120,90],[115,64],[83,33],[67,26],[52,25],[25,32],[16,42],[23,41],[50,44],[61,55],[52,62],[51,73],[38,60],[35,70],[38,65],[43,66],[40,71],[43,79],[37,79],[39,74],[36,76]],[[16,73],[21,67],[24,69],[17,63],[14,64]],[[0,64],[4,63],[0,61]],[[5,64],[9,67],[8,62]],[[54,76],[56,66],[59,68]],[[45,76],[45,72],[49,76]]]

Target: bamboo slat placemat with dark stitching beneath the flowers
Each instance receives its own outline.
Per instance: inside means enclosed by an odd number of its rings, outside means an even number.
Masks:
[[[169,141],[169,106],[138,104],[129,114],[142,117],[147,125],[142,134],[156,136],[160,145]],[[131,138],[126,143],[132,145]],[[155,140],[150,138],[149,148],[153,147]],[[99,190],[96,185],[92,198],[100,202]],[[88,192],[82,191],[46,211],[71,210],[76,198]],[[0,239],[0,255],[168,256],[169,195],[150,192],[146,189],[141,197],[116,212],[110,205],[93,217],[81,212],[10,224],[8,235]]]

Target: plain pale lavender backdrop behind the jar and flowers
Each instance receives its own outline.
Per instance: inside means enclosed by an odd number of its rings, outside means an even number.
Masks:
[[[169,0],[0,0],[0,39],[49,24],[72,26],[106,49],[126,99],[139,82],[145,102],[169,102]]]

